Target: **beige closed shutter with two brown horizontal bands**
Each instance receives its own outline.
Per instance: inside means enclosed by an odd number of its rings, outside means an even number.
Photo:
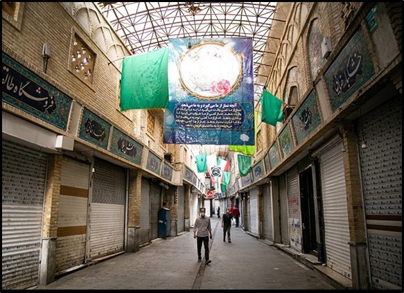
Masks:
[[[87,163],[63,158],[55,252],[56,275],[85,263],[89,169]]]

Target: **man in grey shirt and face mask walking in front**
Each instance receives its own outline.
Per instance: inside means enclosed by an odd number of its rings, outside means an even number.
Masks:
[[[212,239],[211,218],[205,215],[206,209],[200,208],[200,217],[193,224],[193,238],[197,238],[197,261],[202,261],[202,243],[205,249],[205,263],[209,265],[209,238]]]

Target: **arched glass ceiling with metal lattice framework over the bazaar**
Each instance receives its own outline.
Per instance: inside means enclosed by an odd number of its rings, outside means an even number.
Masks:
[[[274,19],[276,2],[98,2],[98,6],[133,54],[166,48],[169,38],[252,37],[256,101],[273,60],[263,56],[274,56],[277,49],[267,42],[273,21],[284,22]],[[203,148],[202,152],[222,157],[228,152],[225,145]]]

